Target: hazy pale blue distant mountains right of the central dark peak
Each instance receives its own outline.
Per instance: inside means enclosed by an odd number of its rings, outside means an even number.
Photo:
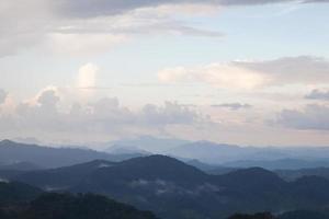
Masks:
[[[329,166],[329,147],[240,147],[235,145],[195,141],[178,146],[166,152],[175,158],[195,159],[214,165],[227,165],[228,162],[269,162],[263,165],[232,165],[234,168],[263,166],[274,170],[276,162],[285,162],[291,169]],[[228,165],[229,166],[229,165]],[[283,165],[282,165],[283,166]],[[266,166],[268,168],[268,166]]]

